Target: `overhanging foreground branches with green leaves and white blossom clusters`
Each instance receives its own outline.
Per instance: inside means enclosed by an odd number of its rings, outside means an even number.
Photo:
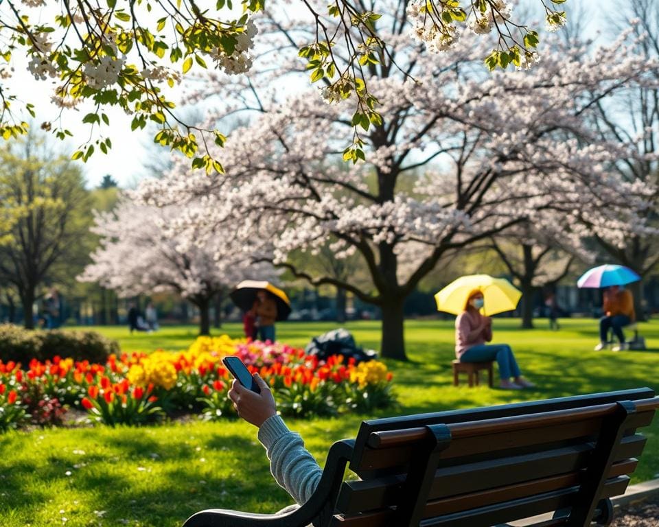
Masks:
[[[549,27],[564,25],[566,0],[535,2],[542,6]],[[370,66],[393,59],[392,43],[376,30],[380,24],[412,21],[413,38],[431,51],[448,53],[461,27],[468,25],[478,34],[496,33],[498,39],[482,57],[491,69],[537,60],[537,30],[514,16],[506,0],[406,0],[393,6],[361,0],[293,4],[314,28],[311,38],[297,45],[310,79],[323,80],[336,99],[350,97],[351,111],[364,126],[380,121],[378,99],[367,84]],[[133,129],[154,122],[161,127],[156,135],[159,143],[194,158],[194,167],[221,171],[207,145],[222,145],[224,136],[215,128],[198,128],[177,117],[167,85],[180,82],[193,67],[231,74],[250,69],[258,32],[253,15],[263,12],[266,3],[242,0],[235,8],[231,0],[5,0],[0,5],[4,62],[0,76],[8,79],[16,57],[27,58],[35,80],[55,80],[53,100],[69,119],[75,114],[66,110],[81,102],[91,104],[82,122],[89,124],[92,137],[80,145],[74,159],[86,161],[94,152],[111,148],[111,138],[103,133],[109,124],[104,110],[118,106],[133,116]],[[268,9],[280,13],[290,8],[288,1],[268,2]],[[0,134],[8,139],[25,133],[27,115],[34,117],[33,103],[7,82],[1,86],[0,98]],[[42,126],[65,139],[71,135],[65,121],[60,113]],[[359,146],[354,144],[354,155]]]

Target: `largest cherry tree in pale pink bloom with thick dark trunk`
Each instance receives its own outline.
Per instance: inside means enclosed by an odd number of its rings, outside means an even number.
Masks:
[[[179,162],[163,180],[141,187],[152,204],[203,197],[205,213],[186,218],[197,237],[243,218],[236,235],[248,246],[272,249],[275,265],[380,307],[382,355],[400,359],[406,358],[404,299],[448,251],[521,221],[550,222],[556,211],[572,222],[575,211],[620,202],[621,189],[629,216],[611,220],[636,218],[645,189],[606,169],[628,154],[625,145],[581,138],[593,135],[586,116],[596,102],[652,67],[623,35],[591,56],[564,47],[531,72],[489,75],[478,64],[487,43],[477,37],[464,34],[451,54],[430,56],[411,47],[405,33],[401,23],[386,36],[400,37],[394,51],[404,71],[385,59],[367,66],[381,121],[362,127],[355,140],[361,150],[343,148],[346,130],[362,124],[345,106],[319,105],[310,93],[281,103],[260,94],[262,84],[239,82],[237,102],[219,105],[211,121],[246,109],[259,116],[229,137],[226,174],[190,174]],[[297,29],[286,34],[297,49]],[[224,95],[227,86],[215,77],[198,96]],[[325,89],[323,95],[335,101]],[[338,167],[337,156],[354,166]],[[421,175],[406,187],[407,174]],[[300,250],[313,257],[329,237],[336,239],[336,258],[359,255],[369,288],[288,258]]]

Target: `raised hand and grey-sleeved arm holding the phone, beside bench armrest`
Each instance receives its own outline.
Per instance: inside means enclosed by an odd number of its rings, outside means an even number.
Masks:
[[[229,399],[238,415],[259,429],[258,439],[270,460],[270,472],[297,503],[279,511],[280,514],[289,513],[309,500],[318,487],[323,469],[305,449],[300,434],[288,430],[284,420],[277,415],[270,386],[258,373],[254,374],[254,379],[261,393],[245,388],[234,379]]]

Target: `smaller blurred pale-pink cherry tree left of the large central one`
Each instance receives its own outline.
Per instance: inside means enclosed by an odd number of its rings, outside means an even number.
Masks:
[[[228,233],[218,233],[203,246],[187,234],[172,235],[165,228],[180,213],[178,207],[147,207],[126,197],[114,211],[96,213],[92,230],[101,245],[78,279],[98,282],[120,296],[176,292],[199,309],[199,332],[207,335],[216,296],[242,279],[268,279],[272,272],[253,265],[249,255],[231,244]]]

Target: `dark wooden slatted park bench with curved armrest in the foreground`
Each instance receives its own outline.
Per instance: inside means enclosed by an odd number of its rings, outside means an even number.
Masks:
[[[363,421],[297,511],[211,509],[185,527],[492,527],[546,513],[535,527],[605,526],[656,408],[640,388]],[[347,465],[359,480],[343,481]]]

